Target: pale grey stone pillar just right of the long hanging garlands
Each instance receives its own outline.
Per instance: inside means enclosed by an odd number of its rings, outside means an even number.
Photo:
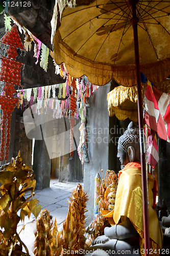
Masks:
[[[99,87],[89,99],[87,108],[87,142],[89,162],[84,163],[84,190],[89,195],[86,223],[90,223],[94,214],[94,177],[103,169],[108,169],[109,159],[109,112],[107,93],[110,83]]]

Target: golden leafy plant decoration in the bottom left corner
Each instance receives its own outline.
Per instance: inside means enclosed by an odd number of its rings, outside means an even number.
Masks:
[[[31,212],[37,218],[41,206],[37,205],[38,200],[32,199],[35,195],[36,181],[34,180],[33,170],[30,166],[22,163],[20,152],[11,163],[4,164],[0,170],[0,252],[2,256],[7,255],[29,255],[27,246],[20,240],[17,233],[17,224],[20,220],[24,221],[25,216],[30,218]],[[30,191],[31,195],[25,198],[25,193]],[[20,210],[20,215],[17,213]],[[24,227],[23,227],[24,228]],[[22,228],[22,229],[23,229]],[[22,252],[22,246],[26,253]]]

